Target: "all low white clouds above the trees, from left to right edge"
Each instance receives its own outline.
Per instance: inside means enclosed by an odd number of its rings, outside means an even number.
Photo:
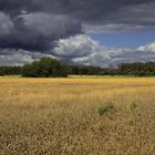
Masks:
[[[45,55],[25,50],[0,49],[0,65],[22,65]],[[155,42],[137,49],[115,49],[104,46],[86,34],[79,34],[59,40],[48,56],[74,64],[108,68],[123,62],[155,61]]]

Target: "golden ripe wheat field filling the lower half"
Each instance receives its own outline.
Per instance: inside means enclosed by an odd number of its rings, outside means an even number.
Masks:
[[[0,155],[154,154],[154,78],[0,78]]]

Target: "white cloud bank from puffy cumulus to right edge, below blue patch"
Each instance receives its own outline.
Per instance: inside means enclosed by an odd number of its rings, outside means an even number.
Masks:
[[[116,66],[123,62],[155,61],[155,43],[133,49],[115,49],[101,45],[86,34],[61,39],[54,54],[75,64]]]

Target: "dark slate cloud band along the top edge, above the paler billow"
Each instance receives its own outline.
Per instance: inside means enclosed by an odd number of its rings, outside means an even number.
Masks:
[[[118,13],[116,11],[122,8],[148,6],[151,2],[154,0],[0,0],[0,10],[12,16],[27,10],[28,12],[64,13],[81,20],[97,21],[106,18],[107,14]]]

